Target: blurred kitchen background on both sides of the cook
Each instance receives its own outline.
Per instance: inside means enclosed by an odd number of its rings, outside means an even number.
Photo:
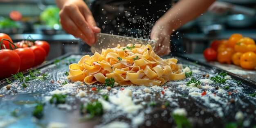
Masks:
[[[182,53],[202,54],[212,40],[227,39],[233,33],[256,40],[256,0],[219,2],[234,4],[234,9],[221,14],[207,11],[174,33],[184,47],[180,50]],[[21,20],[10,20],[11,11],[19,11]],[[9,34],[14,42],[27,38],[48,41],[51,50],[47,60],[79,51],[78,42],[81,41],[61,29],[54,0],[0,0],[0,32]]]

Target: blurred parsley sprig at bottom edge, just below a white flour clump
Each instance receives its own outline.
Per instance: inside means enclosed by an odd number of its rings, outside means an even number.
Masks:
[[[191,123],[185,116],[172,114],[175,124],[177,125],[177,128],[183,128],[185,126],[186,128],[192,128]]]

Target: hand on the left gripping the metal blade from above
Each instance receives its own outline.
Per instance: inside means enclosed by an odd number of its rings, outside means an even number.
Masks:
[[[59,12],[62,28],[76,38],[92,45],[96,41],[97,27],[92,12],[83,0],[67,0]]]

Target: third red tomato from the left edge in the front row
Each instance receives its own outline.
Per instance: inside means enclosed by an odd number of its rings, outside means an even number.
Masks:
[[[31,46],[29,47],[35,54],[35,62],[33,66],[40,65],[45,61],[46,58],[46,52],[45,49],[39,46]]]

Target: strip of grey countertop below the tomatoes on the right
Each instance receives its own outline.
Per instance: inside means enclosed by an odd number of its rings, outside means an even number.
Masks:
[[[222,63],[218,63],[217,61],[207,62],[204,59],[203,54],[184,54],[184,56],[186,56],[188,58],[191,58],[193,60],[196,60],[198,62],[207,63],[207,64],[210,64],[210,65],[216,66],[216,67],[218,67],[222,70],[237,74],[237,75],[242,76],[244,78],[256,81],[256,70],[245,70],[242,67],[238,67],[236,65],[222,64]]]

